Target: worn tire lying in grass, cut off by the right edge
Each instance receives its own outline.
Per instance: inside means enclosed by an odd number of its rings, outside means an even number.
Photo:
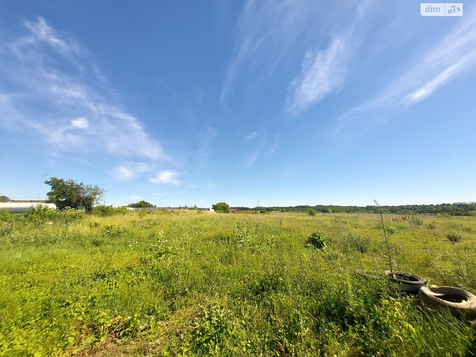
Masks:
[[[453,287],[421,288],[418,297],[430,309],[445,309],[453,316],[476,318],[476,296],[469,291]]]

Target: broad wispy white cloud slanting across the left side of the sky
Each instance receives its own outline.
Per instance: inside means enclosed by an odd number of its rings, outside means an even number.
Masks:
[[[101,152],[150,165],[170,160],[142,123],[123,109],[116,91],[103,87],[107,79],[85,46],[41,17],[24,25],[23,37],[0,45],[0,79],[9,84],[0,89],[1,125],[38,136],[63,154]],[[121,165],[115,176],[131,178],[139,172]]]

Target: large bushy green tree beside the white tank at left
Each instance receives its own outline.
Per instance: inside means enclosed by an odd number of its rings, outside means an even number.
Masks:
[[[60,209],[70,207],[92,211],[106,192],[98,185],[86,185],[72,178],[64,180],[52,177],[45,183],[51,187],[50,192],[46,194],[48,202],[54,203]]]

